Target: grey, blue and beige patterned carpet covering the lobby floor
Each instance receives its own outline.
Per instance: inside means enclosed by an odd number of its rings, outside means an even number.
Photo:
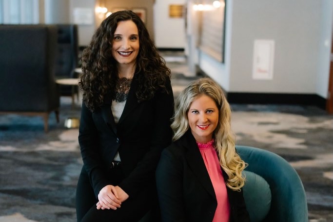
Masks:
[[[192,79],[174,73],[175,96]],[[309,221],[333,222],[333,116],[312,106],[231,105],[237,144],[289,161],[304,184]],[[63,124],[79,111],[61,98],[60,123],[51,115],[47,134],[40,117],[0,115],[0,222],[76,221],[78,129]]]

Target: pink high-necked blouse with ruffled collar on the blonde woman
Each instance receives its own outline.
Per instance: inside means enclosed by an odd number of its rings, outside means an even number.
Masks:
[[[229,222],[230,205],[227,187],[213,143],[214,139],[207,143],[196,142],[215,190],[217,207],[213,222]]]

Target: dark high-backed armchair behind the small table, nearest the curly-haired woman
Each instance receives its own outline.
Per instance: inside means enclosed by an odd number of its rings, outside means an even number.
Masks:
[[[58,48],[56,59],[56,78],[78,78],[75,68],[78,67],[78,25],[57,24]],[[71,96],[74,103],[78,96],[78,86],[59,85],[60,96]]]

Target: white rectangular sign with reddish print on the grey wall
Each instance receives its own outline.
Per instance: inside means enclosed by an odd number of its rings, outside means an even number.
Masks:
[[[255,40],[252,78],[273,80],[274,40]]]

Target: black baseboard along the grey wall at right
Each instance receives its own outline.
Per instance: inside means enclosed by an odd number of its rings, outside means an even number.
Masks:
[[[314,105],[326,108],[326,99],[315,94],[234,93],[228,92],[230,103]]]

